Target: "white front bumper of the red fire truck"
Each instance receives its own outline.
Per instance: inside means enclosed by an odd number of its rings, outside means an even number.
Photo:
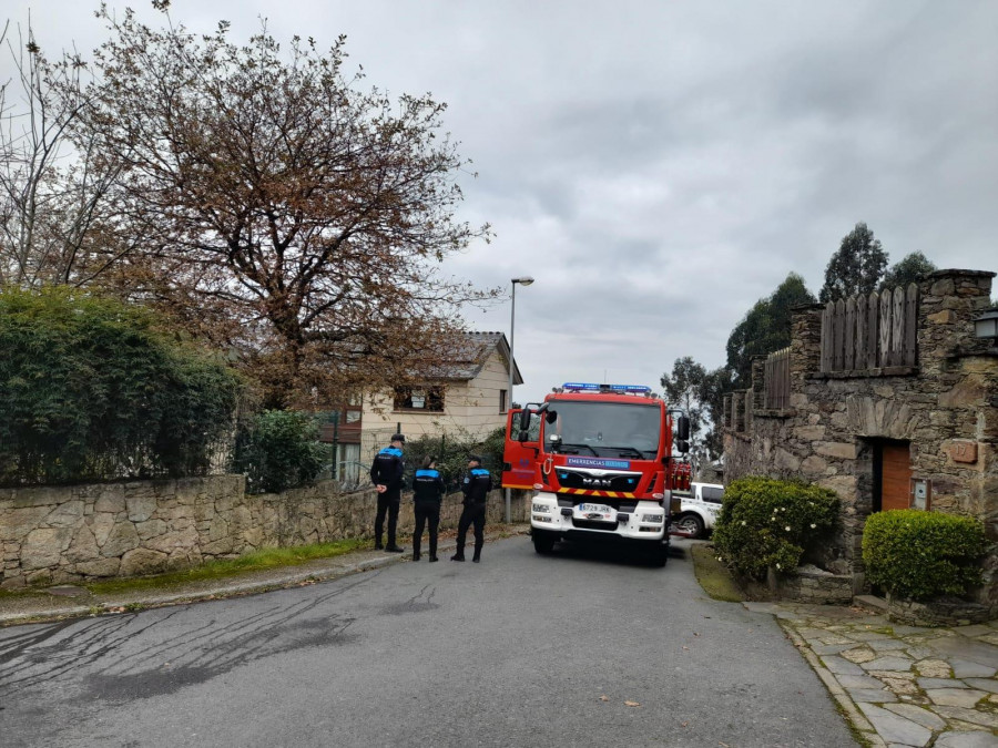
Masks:
[[[584,501],[577,501],[584,499]],[[571,540],[604,536],[605,540],[659,541],[665,533],[666,511],[654,501],[639,501],[633,510],[620,511],[599,496],[572,496],[570,506],[558,495],[538,493],[531,500],[530,526]],[[630,506],[628,508],[630,509]]]

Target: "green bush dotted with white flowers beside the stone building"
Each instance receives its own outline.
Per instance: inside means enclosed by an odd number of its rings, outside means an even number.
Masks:
[[[762,581],[791,572],[835,527],[838,498],[796,481],[743,478],[724,491],[714,546],[734,572]]]

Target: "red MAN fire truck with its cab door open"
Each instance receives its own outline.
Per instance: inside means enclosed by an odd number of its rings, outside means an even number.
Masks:
[[[635,545],[661,566],[679,512],[674,465],[689,438],[686,416],[648,387],[567,382],[510,412],[502,485],[536,492],[538,553],[561,540],[595,540]]]

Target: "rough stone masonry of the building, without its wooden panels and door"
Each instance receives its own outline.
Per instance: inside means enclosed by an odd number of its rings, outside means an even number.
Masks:
[[[998,356],[972,335],[994,275],[939,270],[921,283],[916,367],[821,373],[822,307],[804,307],[793,318],[790,408],[753,408],[761,381],[727,396],[725,482],[797,477],[835,491],[842,530],[817,561],[852,575],[856,592],[880,440],[909,442],[912,475],[930,482],[931,511],[978,518],[998,542]],[[979,602],[998,609],[998,553],[985,574]]]

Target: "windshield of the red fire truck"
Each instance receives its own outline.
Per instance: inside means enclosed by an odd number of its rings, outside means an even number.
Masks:
[[[544,424],[544,449],[561,453],[654,459],[659,450],[661,411],[622,402],[557,400],[558,418]],[[551,441],[551,436],[560,439]]]

